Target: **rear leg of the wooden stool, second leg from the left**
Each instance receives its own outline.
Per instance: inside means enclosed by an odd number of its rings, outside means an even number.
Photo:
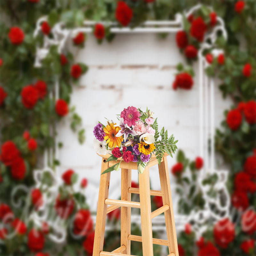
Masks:
[[[131,193],[128,189],[131,187],[131,169],[121,169],[121,200],[131,201]],[[121,206],[121,246],[125,245],[126,250],[122,253],[131,254],[131,241],[128,240],[131,235],[131,207]]]

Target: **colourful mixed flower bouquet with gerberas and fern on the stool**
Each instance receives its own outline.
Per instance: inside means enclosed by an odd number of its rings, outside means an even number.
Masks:
[[[109,153],[111,156],[108,157],[107,162],[117,160],[119,157],[126,163],[137,162],[139,173],[143,173],[152,153],[160,164],[165,152],[172,156],[176,151],[178,140],[174,141],[173,134],[168,138],[164,127],[159,133],[157,118],[154,119],[153,115],[154,113],[148,108],[146,112],[142,112],[140,108],[128,107],[117,115],[119,124],[109,120],[106,125],[99,122],[93,130],[96,152],[99,155]],[[119,168],[120,162],[109,167],[102,174],[118,171]]]

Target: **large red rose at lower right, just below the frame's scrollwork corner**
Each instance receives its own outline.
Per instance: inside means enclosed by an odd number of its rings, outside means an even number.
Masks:
[[[235,238],[235,224],[228,218],[219,220],[213,228],[215,243],[221,248],[227,248]]]

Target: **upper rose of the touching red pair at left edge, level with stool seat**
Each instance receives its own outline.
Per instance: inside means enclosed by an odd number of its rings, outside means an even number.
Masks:
[[[12,162],[19,156],[20,151],[11,140],[7,140],[4,142],[4,144],[2,144],[0,160],[5,165],[11,165]]]

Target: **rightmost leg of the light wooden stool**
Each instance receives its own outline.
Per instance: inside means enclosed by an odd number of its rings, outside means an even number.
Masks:
[[[166,157],[164,157],[163,162],[161,162],[161,164],[158,165],[158,169],[159,169],[161,190],[162,190],[162,196],[163,196],[163,204],[168,204],[170,206],[169,210],[164,212],[167,239],[169,242],[168,243],[169,253],[173,252],[175,256],[179,256],[176,228],[175,228],[175,222],[174,222],[174,213],[173,213],[173,206],[172,206],[172,193],[171,193],[168,164],[167,164]]]

